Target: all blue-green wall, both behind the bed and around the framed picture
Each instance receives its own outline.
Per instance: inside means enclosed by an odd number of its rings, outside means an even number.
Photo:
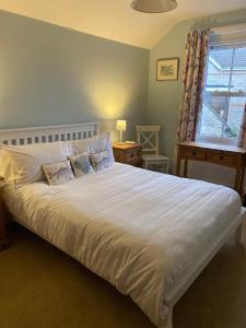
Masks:
[[[133,139],[136,124],[161,124],[173,159],[186,35],[241,22],[246,10],[185,21],[149,51],[0,11],[0,127],[99,120],[114,130],[126,118]],[[156,81],[165,57],[180,58],[178,81]]]

